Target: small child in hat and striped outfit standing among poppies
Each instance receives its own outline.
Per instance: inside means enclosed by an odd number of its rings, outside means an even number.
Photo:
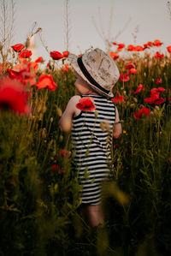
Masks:
[[[118,110],[110,99],[120,74],[114,60],[100,49],[82,57],[70,54],[68,60],[74,67],[75,87],[80,95],[69,100],[59,126],[65,133],[72,131],[75,170],[83,185],[82,205],[94,227],[103,224],[101,185],[109,175],[112,137],[117,139],[122,133]],[[77,106],[81,98],[89,98],[96,109],[80,110]]]

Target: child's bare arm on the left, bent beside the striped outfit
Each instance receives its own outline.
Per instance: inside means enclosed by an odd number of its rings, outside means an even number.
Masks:
[[[58,125],[62,132],[69,133],[72,129],[73,116],[77,115],[76,104],[79,102],[80,96],[76,95],[70,98],[65,111],[60,118]]]

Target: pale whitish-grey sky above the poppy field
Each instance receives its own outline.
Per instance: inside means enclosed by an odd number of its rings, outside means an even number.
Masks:
[[[43,39],[49,51],[66,50],[65,0],[15,0],[15,39],[14,44],[24,43],[32,28],[33,21],[42,27]],[[143,45],[160,39],[164,45],[171,45],[171,17],[168,14],[167,0],[69,0],[69,47],[75,54],[84,52],[91,46],[105,50],[98,29],[107,39],[115,36],[123,27],[125,30],[116,39],[126,45]],[[109,21],[113,7],[112,20]],[[99,15],[99,9],[101,18]],[[109,24],[110,33],[109,33]],[[133,33],[139,27],[136,44]],[[36,35],[38,57],[50,59]]]

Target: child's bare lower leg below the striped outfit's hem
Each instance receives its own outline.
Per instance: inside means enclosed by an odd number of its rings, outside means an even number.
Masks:
[[[101,210],[101,205],[86,205],[85,211],[87,213],[91,227],[95,227],[98,224],[103,225],[104,220],[103,220],[103,212]]]

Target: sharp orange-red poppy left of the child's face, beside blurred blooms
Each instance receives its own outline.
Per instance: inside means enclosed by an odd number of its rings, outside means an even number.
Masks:
[[[48,88],[51,91],[54,91],[57,87],[51,74],[40,74],[40,76],[38,77],[38,83],[36,86],[38,89]]]

